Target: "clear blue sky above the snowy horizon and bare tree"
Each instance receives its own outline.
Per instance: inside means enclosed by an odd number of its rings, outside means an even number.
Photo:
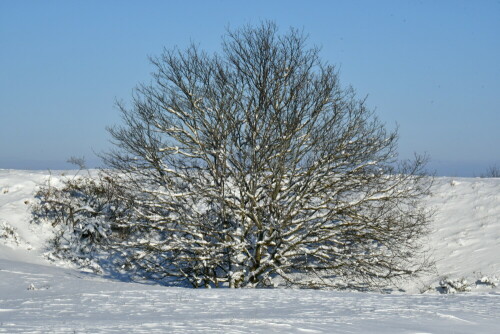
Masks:
[[[438,175],[500,166],[500,1],[0,0],[0,168],[99,164],[148,56],[273,20],[309,35]]]

